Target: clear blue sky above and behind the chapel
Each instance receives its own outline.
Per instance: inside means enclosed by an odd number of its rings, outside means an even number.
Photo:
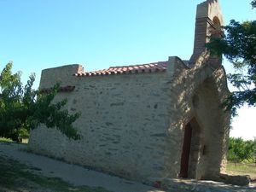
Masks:
[[[109,66],[189,59],[200,0],[0,0],[0,68],[14,62],[22,79],[41,70],[79,63],[85,71]],[[255,20],[249,0],[220,1],[224,20]],[[230,72],[230,65],[224,62]],[[253,111],[250,111],[253,110]],[[245,109],[239,113],[256,113]],[[234,119],[236,122],[236,119]],[[246,119],[247,121],[247,119]],[[239,130],[239,123],[234,130]],[[240,125],[240,127],[242,124]],[[256,137],[242,128],[238,136]],[[234,132],[234,131],[233,131]]]

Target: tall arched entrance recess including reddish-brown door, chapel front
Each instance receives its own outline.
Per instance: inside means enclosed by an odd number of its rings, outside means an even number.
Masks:
[[[219,92],[218,86],[223,85],[216,84],[215,79],[205,79],[191,98],[194,118],[183,128],[180,177],[207,179],[224,168],[230,114],[220,107],[220,98],[225,93]]]

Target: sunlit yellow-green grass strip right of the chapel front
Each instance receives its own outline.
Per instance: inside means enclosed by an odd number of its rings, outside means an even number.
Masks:
[[[250,175],[251,177],[256,177],[256,165],[229,162],[227,165],[227,172],[236,175]]]

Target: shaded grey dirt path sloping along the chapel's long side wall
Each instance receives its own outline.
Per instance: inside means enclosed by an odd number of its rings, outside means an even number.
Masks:
[[[102,187],[113,192],[164,192],[142,183],[127,181],[81,166],[70,165],[60,160],[26,153],[20,150],[22,148],[26,148],[26,145],[0,143],[0,156],[18,160],[28,166],[38,167],[40,170],[38,173],[45,177],[60,177],[62,180],[78,186]]]

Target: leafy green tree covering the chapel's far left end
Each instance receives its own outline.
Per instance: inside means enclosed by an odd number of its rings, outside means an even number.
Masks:
[[[69,138],[79,139],[78,131],[72,125],[79,113],[69,114],[63,109],[67,100],[53,102],[59,85],[42,94],[32,89],[34,74],[23,86],[20,73],[11,72],[12,66],[9,62],[0,75],[0,137],[19,142],[20,136],[44,124],[58,129]]]

